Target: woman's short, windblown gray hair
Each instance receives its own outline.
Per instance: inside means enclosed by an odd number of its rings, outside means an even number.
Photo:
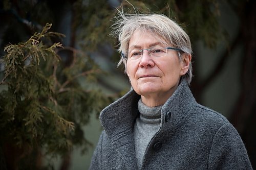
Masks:
[[[112,25],[112,35],[119,38],[118,51],[122,54],[118,66],[124,64],[126,73],[127,58],[123,54],[127,53],[129,41],[135,31],[151,31],[157,35],[164,43],[180,48],[183,53],[192,54],[191,43],[185,31],[172,19],[163,14],[124,14],[118,11],[116,22]],[[178,52],[181,61],[182,52]],[[192,64],[184,75],[188,84],[192,79]]]

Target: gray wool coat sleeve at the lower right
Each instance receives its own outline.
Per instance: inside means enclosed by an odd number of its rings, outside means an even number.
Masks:
[[[220,127],[212,140],[208,169],[252,169],[244,143],[234,127]]]

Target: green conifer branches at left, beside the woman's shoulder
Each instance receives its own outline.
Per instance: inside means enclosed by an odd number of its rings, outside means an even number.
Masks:
[[[1,59],[5,69],[0,86],[7,88],[0,92],[0,141],[2,147],[11,143],[22,149],[22,155],[40,148],[50,155],[65,154],[74,145],[86,151],[90,143],[82,126],[110,100],[81,86],[80,78],[91,84],[101,71],[86,54],[53,43],[52,37],[63,35],[50,32],[51,26],[47,23],[26,42],[7,45]],[[62,50],[74,52],[69,66],[57,54]]]

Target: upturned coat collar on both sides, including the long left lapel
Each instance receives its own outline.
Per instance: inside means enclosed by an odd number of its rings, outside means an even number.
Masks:
[[[100,122],[106,135],[120,151],[123,160],[129,162],[129,169],[136,169],[133,126],[139,114],[137,104],[140,98],[140,95],[131,90],[100,113]],[[158,133],[173,133],[193,111],[190,106],[195,102],[187,82],[182,79],[173,95],[163,105]],[[167,113],[172,113],[170,121],[166,121]]]

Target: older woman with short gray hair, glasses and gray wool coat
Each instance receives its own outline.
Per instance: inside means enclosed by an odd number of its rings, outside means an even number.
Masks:
[[[119,65],[132,90],[102,110],[90,169],[252,169],[236,129],[191,94],[183,29],[160,14],[120,18]]]

